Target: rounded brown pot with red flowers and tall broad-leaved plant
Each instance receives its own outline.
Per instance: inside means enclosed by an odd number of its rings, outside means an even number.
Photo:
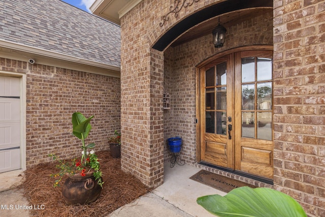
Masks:
[[[54,161],[57,161],[58,173],[51,174],[51,177],[57,178],[54,182],[54,187],[59,186],[59,183],[64,175],[68,178],[62,187],[62,197],[68,204],[86,204],[95,201],[103,188],[102,172],[100,171],[99,159],[94,150],[88,151],[88,148],[93,148],[94,143],[85,144],[90,130],[90,120],[85,118],[80,112],[75,112],[72,115],[73,135],[81,139],[81,158],[75,158],[71,161],[59,160],[55,154],[49,154]]]

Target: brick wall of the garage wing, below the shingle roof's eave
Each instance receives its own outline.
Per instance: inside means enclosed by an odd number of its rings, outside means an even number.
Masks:
[[[27,74],[26,166],[51,159],[80,156],[79,139],[72,135],[72,114],[91,120],[86,139],[95,150],[109,149],[108,137],[120,129],[120,79],[1,58],[1,70]]]

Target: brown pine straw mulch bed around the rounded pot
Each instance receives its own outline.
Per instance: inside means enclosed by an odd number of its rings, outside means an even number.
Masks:
[[[142,182],[131,174],[122,172],[120,159],[113,159],[109,151],[96,152],[105,181],[101,196],[88,205],[67,205],[61,196],[61,187],[53,188],[56,163],[39,164],[24,172],[21,188],[29,205],[44,209],[32,209],[32,216],[108,216],[117,208],[131,203],[148,193]],[[64,180],[62,179],[61,186]]]

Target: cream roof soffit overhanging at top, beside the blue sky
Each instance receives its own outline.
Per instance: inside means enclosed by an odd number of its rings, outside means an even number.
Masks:
[[[142,0],[95,0],[90,11],[103,19],[121,25],[120,18]]]

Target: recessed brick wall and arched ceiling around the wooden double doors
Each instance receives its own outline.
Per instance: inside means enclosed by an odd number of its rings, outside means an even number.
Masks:
[[[252,1],[251,4],[257,4],[257,1]],[[198,85],[196,80],[198,66],[204,65],[213,56],[222,52],[226,53],[231,49],[249,49],[249,46],[254,46],[254,49],[260,46],[264,49],[265,46],[268,46],[268,49],[272,50],[273,2],[268,1],[266,4],[251,5],[251,8],[235,8],[235,11],[227,8],[228,11],[225,13],[217,11],[219,14],[215,17],[194,27],[189,27],[186,33],[177,36],[176,40],[164,48],[163,44],[169,43],[166,41],[168,37],[165,36],[175,37],[170,33],[173,27],[153,46],[153,48],[164,50],[164,91],[171,94],[172,98],[171,110],[164,111],[164,140],[175,135],[181,136],[184,144],[183,158],[188,164],[202,161],[200,131],[198,130],[200,117],[198,117],[197,109],[200,100],[198,100],[199,90],[195,88]],[[216,6],[211,7],[215,9]],[[243,5],[236,7],[243,7]],[[198,14],[200,13],[198,12]],[[192,17],[189,16],[188,19],[194,18],[198,14],[192,14]],[[222,25],[227,28],[227,33],[224,46],[217,49],[213,47],[211,32],[219,18]],[[178,26],[181,25],[180,23]],[[187,21],[182,24],[186,25]],[[197,117],[198,123],[193,117]],[[169,160],[166,148],[165,160]],[[268,177],[272,179],[272,175],[273,173],[270,173]]]

